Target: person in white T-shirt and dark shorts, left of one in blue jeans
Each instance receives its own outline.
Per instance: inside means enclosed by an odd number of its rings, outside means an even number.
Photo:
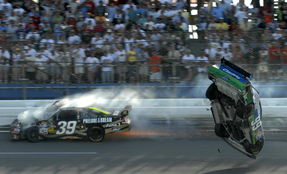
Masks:
[[[88,67],[87,71],[88,71],[88,81],[89,83],[94,83],[95,82],[95,74],[98,71],[98,65],[100,63],[100,60],[96,57],[92,57],[91,56],[92,53],[88,53],[87,54],[87,58],[85,60],[85,65]]]

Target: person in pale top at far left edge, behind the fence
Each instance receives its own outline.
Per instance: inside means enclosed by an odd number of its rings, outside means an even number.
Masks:
[[[10,53],[4,45],[0,47],[0,83],[8,83]]]

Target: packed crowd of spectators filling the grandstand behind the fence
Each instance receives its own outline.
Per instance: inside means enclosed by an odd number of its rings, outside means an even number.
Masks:
[[[36,83],[191,81],[223,56],[271,59],[269,49],[277,51],[274,59],[285,56],[287,5],[281,1],[279,8],[271,1],[263,7],[254,1],[253,8],[242,0],[236,6],[230,0],[213,8],[212,1],[208,7],[199,4],[196,33],[206,43],[201,49],[188,44],[191,20],[183,0],[0,2],[0,83],[21,78]],[[249,42],[252,38],[278,44]],[[260,70],[266,72],[264,64]]]

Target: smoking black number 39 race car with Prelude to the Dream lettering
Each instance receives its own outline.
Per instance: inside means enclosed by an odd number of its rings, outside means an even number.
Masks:
[[[41,139],[67,138],[88,138],[99,142],[105,134],[129,131],[131,120],[128,115],[132,109],[130,105],[120,112],[95,106],[60,108],[58,102],[46,109],[55,111],[47,120],[35,120],[27,125],[15,119],[10,127],[10,138],[27,138],[33,143]]]

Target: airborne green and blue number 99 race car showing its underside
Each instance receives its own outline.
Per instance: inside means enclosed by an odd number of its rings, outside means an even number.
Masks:
[[[259,92],[251,85],[253,74],[228,60],[208,71],[213,83],[206,91],[211,101],[215,134],[230,146],[256,159],[264,144]]]

